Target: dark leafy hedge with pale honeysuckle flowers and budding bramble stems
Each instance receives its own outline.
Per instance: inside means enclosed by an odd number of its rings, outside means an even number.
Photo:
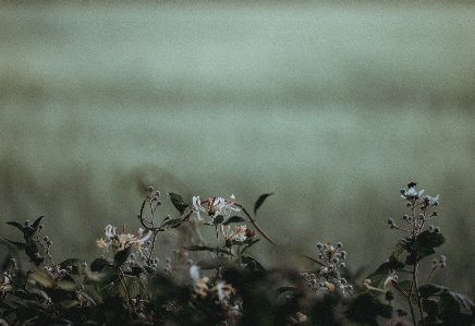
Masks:
[[[407,236],[398,240],[389,258],[363,280],[358,291],[348,280],[351,275],[343,262],[348,254],[341,242],[334,245],[318,242],[317,257],[303,254],[314,266],[310,270],[269,268],[252,256],[259,234],[276,244],[255,220],[271,193],[258,197],[254,216],[233,195],[206,201],[195,196],[192,203],[186,203],[181,195],[167,193],[179,217],[167,215],[158,222],[160,192],[149,186],[137,216],[138,231],[131,234],[125,227],[119,232],[115,227],[106,226],[106,239],[96,241],[105,255],[90,263],[68,258],[56,264],[50,254],[52,241],[41,236],[42,216],[33,224],[9,221],[22,232],[23,241],[5,239],[9,255],[0,267],[0,322],[2,325],[473,325],[475,305],[471,299],[430,283],[434,273],[446,266],[444,256],[433,261],[426,282],[421,285],[419,265],[446,239],[437,227],[425,229],[426,222],[438,216],[433,209],[438,205],[438,196],[423,196],[424,191],[415,191],[415,185],[411,182],[407,190],[401,190],[410,209],[410,214],[403,215],[406,226],[399,226],[392,218],[388,220],[391,229]],[[232,212],[242,212],[244,216],[231,216]],[[174,258],[159,268],[160,262],[154,255],[159,233],[178,232],[180,226],[195,217],[204,227],[215,229],[216,239],[176,249]],[[33,266],[20,268],[14,258],[16,251],[24,251]],[[188,258],[191,252],[198,254],[197,262]],[[409,312],[394,307],[398,300],[394,292],[406,302]]]

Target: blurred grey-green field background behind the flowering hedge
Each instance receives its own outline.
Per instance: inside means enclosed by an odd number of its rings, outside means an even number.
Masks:
[[[435,281],[474,294],[474,11],[2,4],[0,236],[46,215],[57,261],[92,261],[106,225],[138,228],[150,183],[249,208],[275,192],[257,220],[282,246],[256,245],[264,265],[341,241],[363,277],[405,236],[387,219],[413,180],[440,194]],[[158,255],[175,247],[163,234]]]

